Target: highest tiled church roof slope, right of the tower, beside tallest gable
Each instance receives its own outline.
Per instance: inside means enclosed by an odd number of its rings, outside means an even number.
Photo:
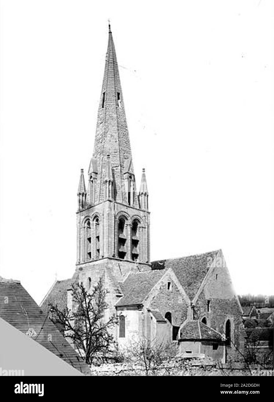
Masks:
[[[218,251],[172,258],[170,260],[153,261],[151,267],[152,270],[172,268],[187,295],[190,299],[193,299],[208,272],[208,258],[213,259]]]

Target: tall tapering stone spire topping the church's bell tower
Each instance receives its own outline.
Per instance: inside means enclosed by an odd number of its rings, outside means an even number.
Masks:
[[[135,183],[128,125],[115,47],[109,25],[109,38],[105,59],[105,72],[97,117],[95,144],[91,166],[97,166],[94,203],[104,200],[104,183],[107,174],[107,155],[113,172],[113,199],[127,203],[128,178]],[[89,175],[91,175],[91,168]],[[138,205],[134,197],[131,205]]]

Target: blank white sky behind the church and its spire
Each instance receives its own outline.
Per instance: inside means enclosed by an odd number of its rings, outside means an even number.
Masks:
[[[110,18],[151,260],[222,248],[237,293],[273,294],[273,17],[271,0],[2,0],[0,275],[40,302],[74,273]]]

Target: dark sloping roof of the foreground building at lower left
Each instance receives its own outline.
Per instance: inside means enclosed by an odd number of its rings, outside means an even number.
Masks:
[[[7,302],[8,301],[8,302]],[[16,281],[0,281],[0,317],[81,372],[87,364]]]

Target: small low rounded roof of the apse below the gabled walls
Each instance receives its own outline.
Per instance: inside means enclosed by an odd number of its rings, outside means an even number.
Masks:
[[[179,340],[222,340],[222,335],[199,320],[186,320],[180,329]]]

